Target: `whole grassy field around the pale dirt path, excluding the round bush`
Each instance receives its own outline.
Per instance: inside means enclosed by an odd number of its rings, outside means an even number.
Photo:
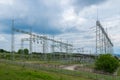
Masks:
[[[78,63],[34,59],[9,60],[10,56],[8,55],[2,54],[0,60],[0,80],[120,80],[120,68],[118,69],[118,76],[96,74],[82,70],[69,71],[58,66]],[[93,68],[94,65],[85,64],[85,67]],[[85,69],[85,67],[83,68]]]

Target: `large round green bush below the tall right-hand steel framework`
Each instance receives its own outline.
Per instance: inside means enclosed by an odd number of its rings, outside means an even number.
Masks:
[[[113,73],[118,67],[119,61],[111,54],[101,54],[95,62],[95,68],[104,72]]]

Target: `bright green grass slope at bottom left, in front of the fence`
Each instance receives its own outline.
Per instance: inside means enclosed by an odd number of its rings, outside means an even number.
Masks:
[[[55,72],[33,70],[7,63],[0,63],[0,80],[90,80]]]

